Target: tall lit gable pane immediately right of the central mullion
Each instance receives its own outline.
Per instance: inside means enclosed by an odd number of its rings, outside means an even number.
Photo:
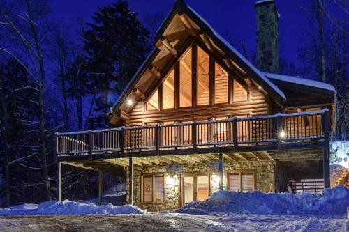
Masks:
[[[198,47],[197,105],[209,105],[209,55]]]

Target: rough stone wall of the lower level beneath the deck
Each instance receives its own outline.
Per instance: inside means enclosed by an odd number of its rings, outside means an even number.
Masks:
[[[170,164],[154,166],[134,166],[133,169],[133,204],[149,212],[175,210],[179,208],[180,173],[209,172],[211,173],[211,193],[219,189],[216,176],[218,162],[210,164]],[[224,163],[223,188],[226,189],[226,173],[229,171],[255,170],[255,187],[262,192],[275,192],[275,165],[272,161],[232,162]],[[165,203],[140,203],[141,175],[146,173],[165,173]],[[126,171],[126,203],[128,202],[128,171]]]

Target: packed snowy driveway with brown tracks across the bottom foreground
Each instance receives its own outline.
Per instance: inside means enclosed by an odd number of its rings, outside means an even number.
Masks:
[[[346,215],[45,215],[0,217],[0,231],[346,231]]]

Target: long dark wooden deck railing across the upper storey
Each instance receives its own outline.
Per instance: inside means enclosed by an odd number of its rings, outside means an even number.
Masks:
[[[56,155],[61,161],[324,148],[329,116],[324,109],[56,136]]]

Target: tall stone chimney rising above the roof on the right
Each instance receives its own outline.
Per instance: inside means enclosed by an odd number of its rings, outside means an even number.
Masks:
[[[274,0],[255,2],[257,13],[257,68],[263,72],[279,72],[278,20]]]

